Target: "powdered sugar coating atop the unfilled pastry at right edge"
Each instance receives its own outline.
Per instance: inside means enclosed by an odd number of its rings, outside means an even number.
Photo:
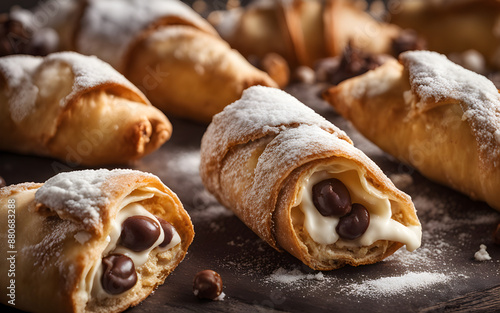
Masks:
[[[422,100],[418,109],[432,108],[444,100],[459,101],[462,119],[471,125],[482,160],[500,156],[500,95],[493,82],[436,52],[410,51],[400,59],[409,70],[412,91]]]

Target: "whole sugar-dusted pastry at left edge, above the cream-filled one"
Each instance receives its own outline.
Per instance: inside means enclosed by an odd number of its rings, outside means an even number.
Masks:
[[[0,149],[97,165],[170,138],[167,117],[111,66],[74,52],[0,58]]]

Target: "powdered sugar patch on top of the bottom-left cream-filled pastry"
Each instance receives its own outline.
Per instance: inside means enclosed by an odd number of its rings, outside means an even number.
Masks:
[[[132,170],[84,170],[60,173],[37,190],[35,200],[55,211],[61,218],[80,221],[93,229],[101,219],[101,209],[109,203],[102,184]]]

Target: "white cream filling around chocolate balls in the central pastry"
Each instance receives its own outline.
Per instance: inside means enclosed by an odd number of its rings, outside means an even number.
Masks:
[[[339,238],[335,228],[340,218],[323,216],[314,206],[313,186],[330,178],[343,182],[349,190],[352,203],[362,204],[370,214],[368,229],[355,240]],[[304,214],[304,227],[318,244],[336,243],[340,247],[360,247],[369,246],[378,240],[389,240],[405,244],[408,251],[420,247],[422,237],[420,226],[405,226],[393,220],[389,198],[373,187],[366,180],[361,169],[348,160],[339,160],[335,166],[318,168],[302,186],[295,199],[294,207],[298,207]]]

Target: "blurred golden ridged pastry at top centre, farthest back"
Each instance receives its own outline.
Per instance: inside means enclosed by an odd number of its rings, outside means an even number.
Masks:
[[[255,1],[216,11],[209,21],[244,56],[275,52],[292,67],[340,55],[348,42],[365,52],[392,53],[393,41],[402,33],[346,0]]]

